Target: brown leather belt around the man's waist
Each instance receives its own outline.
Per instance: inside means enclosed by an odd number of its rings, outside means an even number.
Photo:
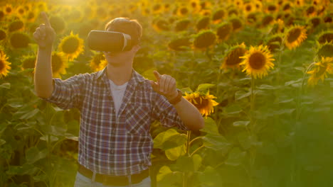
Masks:
[[[78,165],[78,172],[89,179],[93,178],[93,171],[85,168],[81,164]],[[149,176],[149,169],[142,171],[139,174],[132,174],[131,181],[132,184],[139,183],[143,179],[146,179]],[[127,186],[129,185],[129,176],[112,176],[112,175],[103,175],[96,174],[95,181],[109,186]]]

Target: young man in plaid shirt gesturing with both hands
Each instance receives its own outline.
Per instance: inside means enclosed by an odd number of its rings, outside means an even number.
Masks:
[[[154,72],[157,81],[149,81],[134,71],[142,26],[128,18],[113,19],[105,30],[130,35],[130,50],[105,52],[107,67],[100,72],[65,81],[53,79],[51,52],[56,34],[46,13],[41,16],[45,24],[33,33],[38,42],[35,90],[60,108],[80,110],[75,186],[150,186],[150,124],[159,120],[166,127],[199,130],[204,126],[202,115],[181,96],[173,77]]]

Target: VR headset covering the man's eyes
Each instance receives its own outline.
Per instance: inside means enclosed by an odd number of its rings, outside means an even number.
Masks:
[[[125,33],[91,30],[88,34],[88,47],[97,51],[122,52],[132,48],[132,40]]]

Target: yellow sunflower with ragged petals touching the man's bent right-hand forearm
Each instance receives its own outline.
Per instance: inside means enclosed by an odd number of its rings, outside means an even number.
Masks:
[[[199,112],[206,117],[207,115],[213,113],[213,107],[218,105],[218,103],[213,100],[214,98],[216,98],[216,96],[210,95],[209,91],[206,94],[199,93],[197,91],[191,94],[185,93],[184,98],[186,98],[187,101],[196,106]]]

